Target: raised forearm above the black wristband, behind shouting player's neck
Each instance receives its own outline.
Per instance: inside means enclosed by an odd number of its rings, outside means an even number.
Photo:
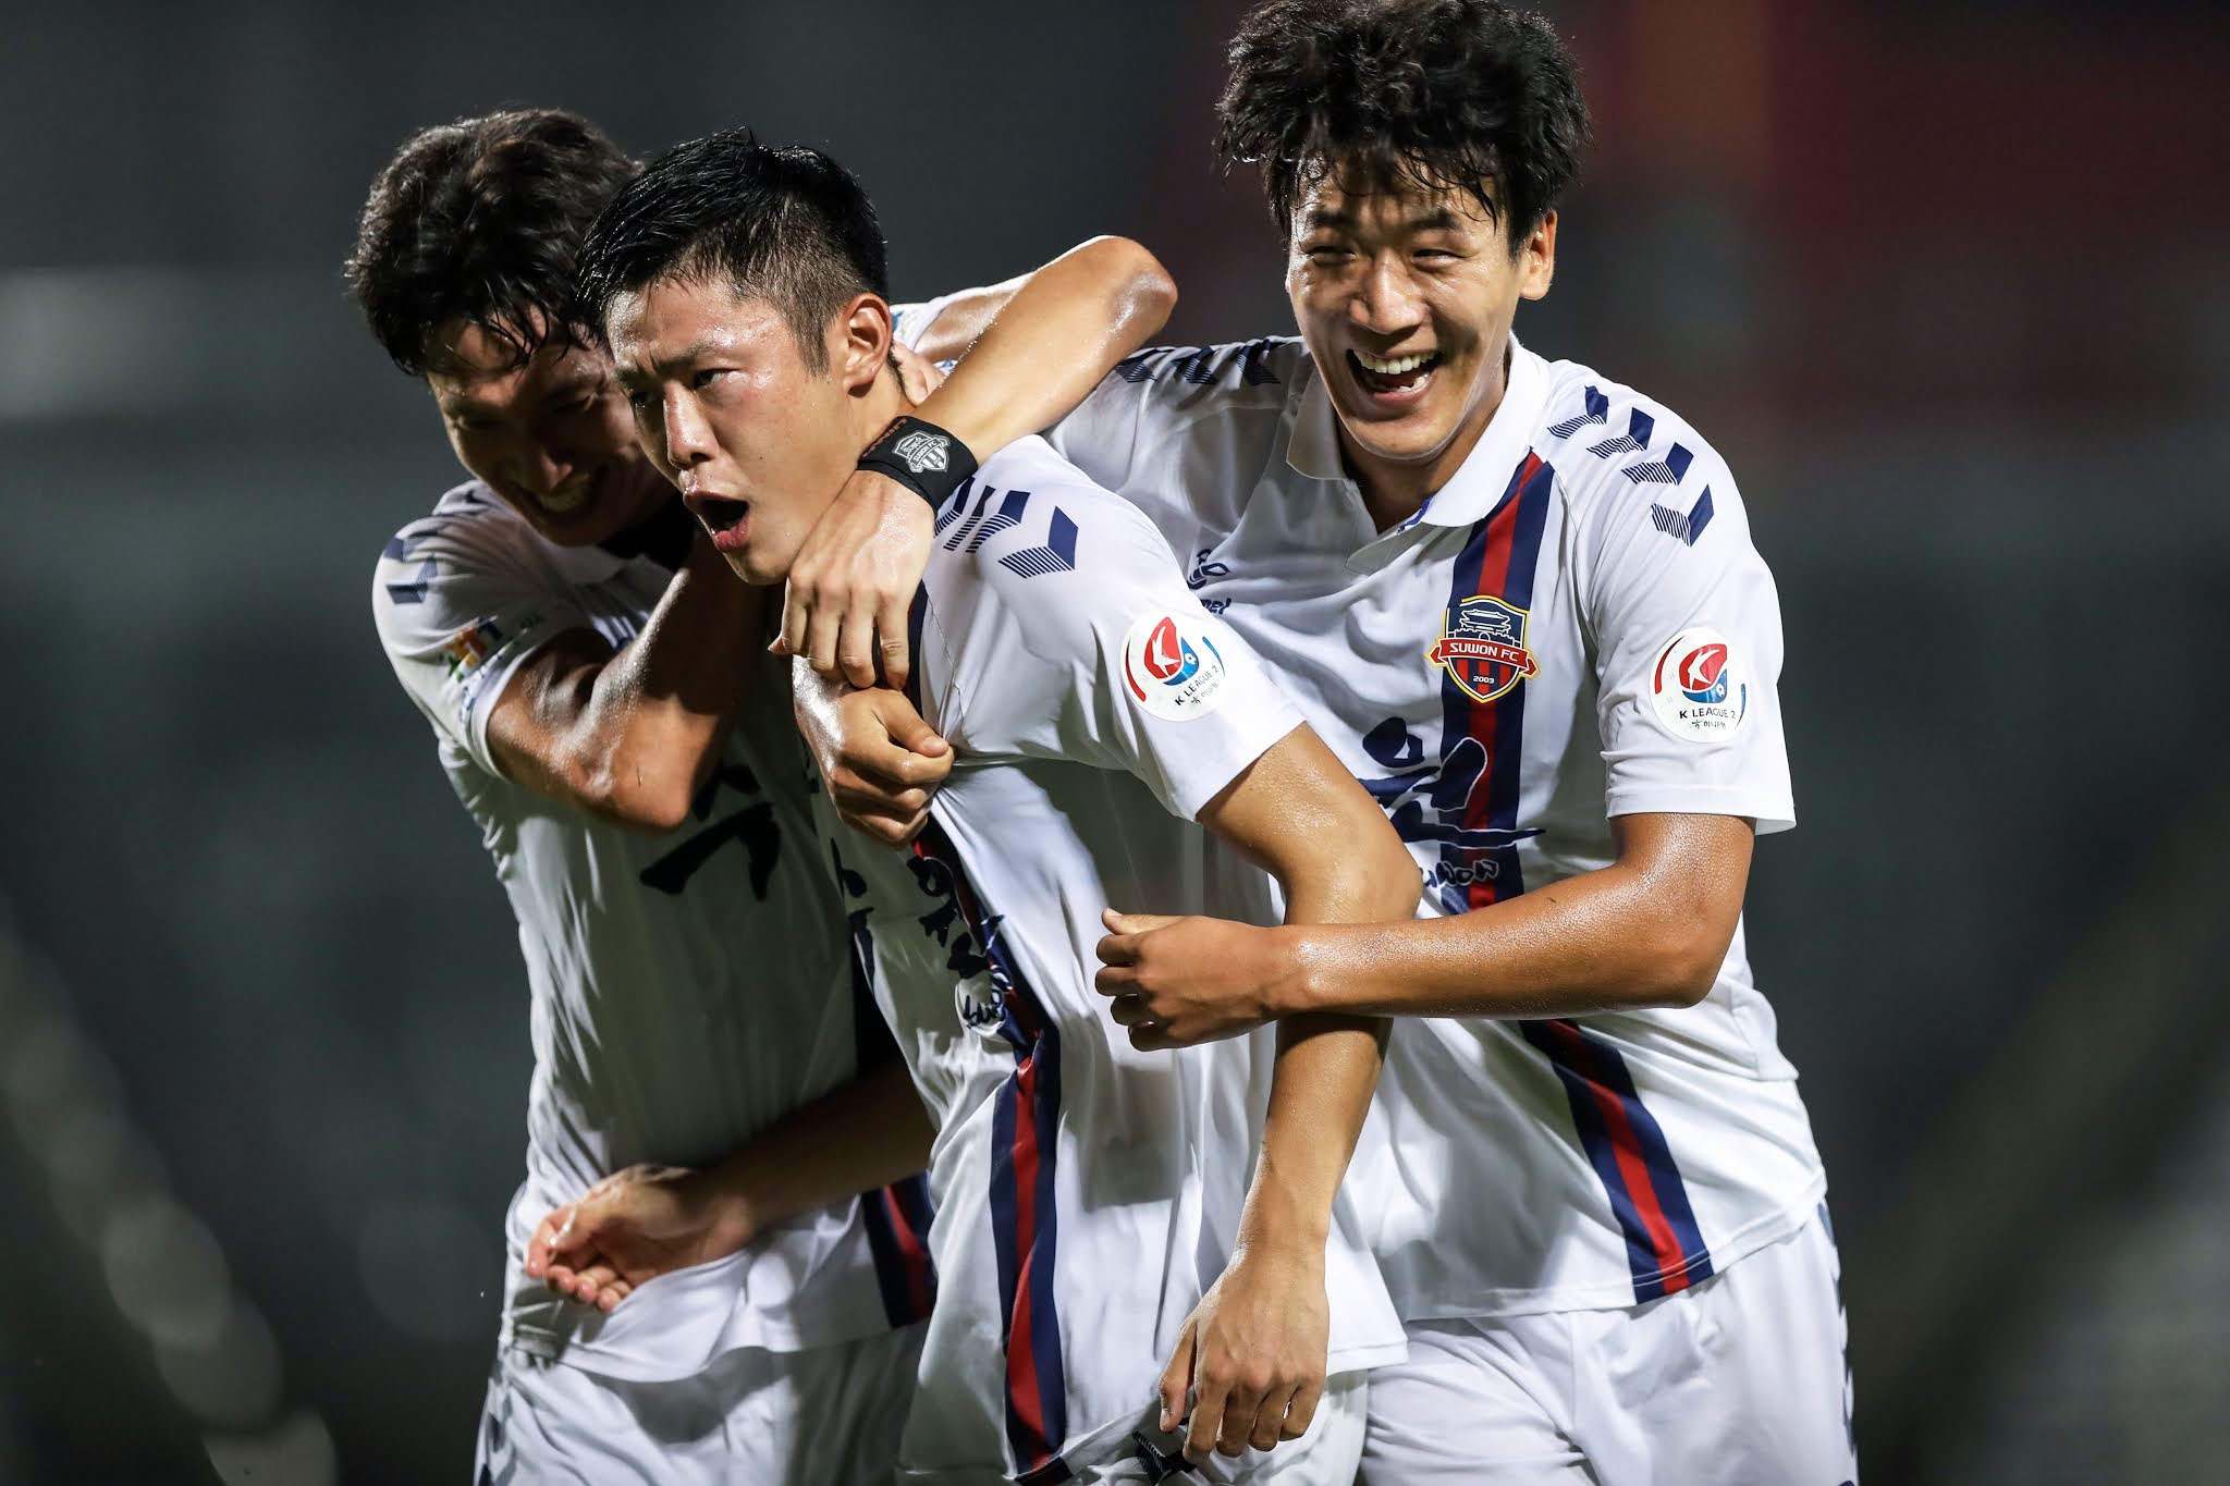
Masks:
[[[1093,238],[1028,278],[1012,299],[999,290],[963,296],[930,325],[923,354],[948,352],[959,334],[959,365],[917,410],[948,430],[977,459],[1061,421],[1115,363],[1142,348],[1169,321],[1177,287],[1151,252],[1128,238]],[[986,316],[988,310],[988,319]],[[975,323],[970,323],[975,321]],[[932,359],[943,359],[934,356]]]

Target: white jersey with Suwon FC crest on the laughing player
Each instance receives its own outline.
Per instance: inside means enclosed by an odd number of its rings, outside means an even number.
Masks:
[[[1055,430],[1184,555],[1465,913],[1639,811],[1793,824],[1773,579],[1726,463],[1512,341],[1463,468],[1380,532],[1300,341],[1146,352]],[[1400,1018],[1358,1152],[1405,1319],[1632,1306],[1795,1232],[1820,1156],[1737,927],[1693,1009]]]

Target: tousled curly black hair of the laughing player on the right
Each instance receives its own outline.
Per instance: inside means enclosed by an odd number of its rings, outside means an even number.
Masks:
[[[1503,0],[1267,0],[1226,58],[1218,154],[1262,167],[1289,236],[1302,194],[1338,174],[1467,189],[1516,252],[1579,176],[1579,67],[1548,20]]]

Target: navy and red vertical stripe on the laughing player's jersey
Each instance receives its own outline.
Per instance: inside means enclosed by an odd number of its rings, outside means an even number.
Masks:
[[[1510,477],[1503,499],[1472,528],[1463,555],[1456,557],[1450,613],[1478,595],[1494,595],[1512,610],[1532,610],[1534,570],[1541,561],[1541,532],[1548,526],[1554,481],[1557,470],[1528,452]],[[1487,853],[1487,869],[1463,862],[1463,853],[1476,849],[1454,842],[1441,847],[1441,900],[1450,913],[1483,909],[1525,891],[1516,824],[1528,691],[1525,684],[1510,686],[1492,702],[1478,704],[1454,675],[1441,677],[1441,757],[1450,757],[1465,740],[1474,740],[1487,755],[1483,786],[1474,786],[1463,806],[1463,827],[1494,831],[1507,840]],[[1635,1301],[1652,1301],[1708,1277],[1710,1250],[1695,1225],[1679,1165],[1657,1118],[1641,1105],[1626,1058],[1572,1020],[1519,1023],[1519,1027],[1548,1058],[1572,1105],[1579,1143],[1603,1181],[1610,1212],[1626,1239]]]

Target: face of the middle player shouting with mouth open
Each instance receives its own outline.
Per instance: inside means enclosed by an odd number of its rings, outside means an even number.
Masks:
[[[816,372],[783,314],[725,281],[660,281],[604,316],[644,452],[747,584],[789,575],[859,463],[859,392],[874,365],[861,381],[847,325],[830,327],[830,365]]]

